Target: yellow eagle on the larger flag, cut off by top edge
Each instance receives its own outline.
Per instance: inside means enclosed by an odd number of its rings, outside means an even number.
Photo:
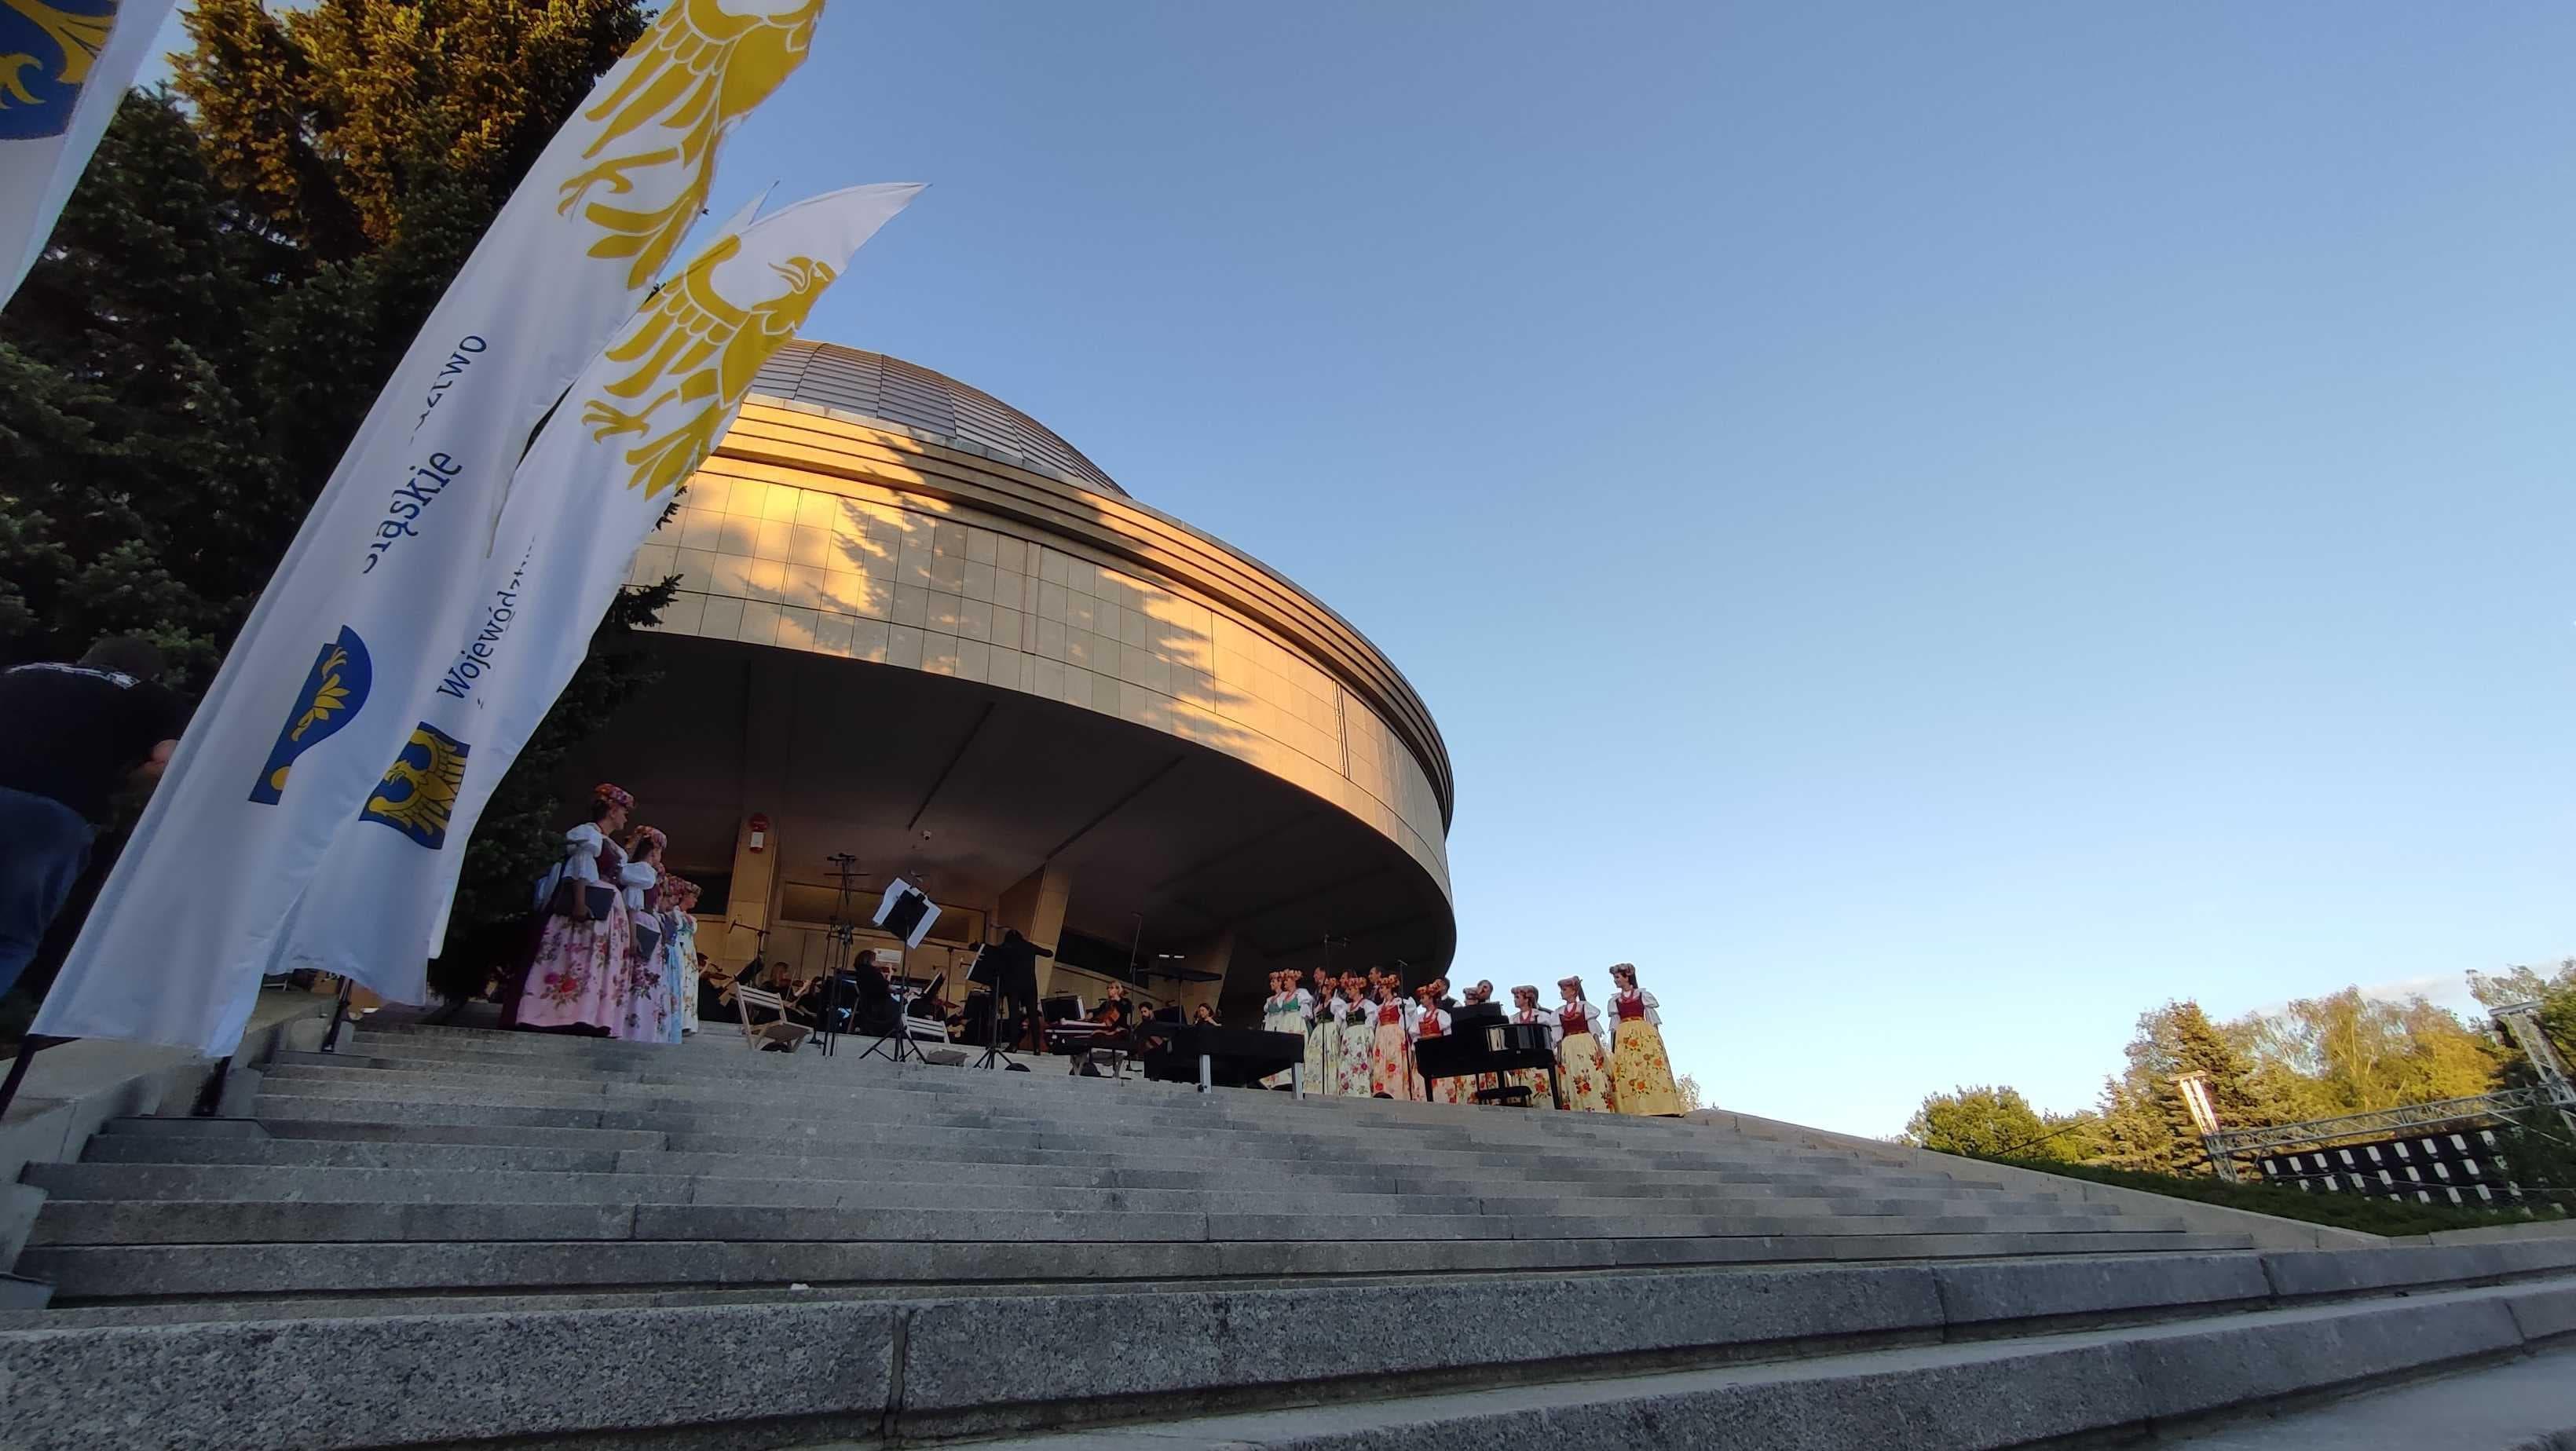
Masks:
[[[592,258],[634,258],[626,286],[649,283],[670,260],[706,209],[716,142],[804,64],[817,15],[822,0],[783,0],[752,15],[737,15],[721,0],[672,0],[626,52],[636,64],[616,90],[582,111],[585,121],[600,124],[598,139],[582,149],[592,165],[564,180],[556,211],[580,206],[585,222],[608,232],[590,245]],[[626,196],[636,173],[662,165],[688,168],[688,183],[667,204],[590,201],[598,188]]]

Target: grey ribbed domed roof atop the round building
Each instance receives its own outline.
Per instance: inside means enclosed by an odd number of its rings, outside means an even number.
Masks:
[[[1126,497],[1126,490],[1103,474],[1100,464],[1056,438],[1054,428],[984,389],[884,353],[788,340],[762,363],[752,392],[855,412],[925,443],[984,454],[1066,485]]]

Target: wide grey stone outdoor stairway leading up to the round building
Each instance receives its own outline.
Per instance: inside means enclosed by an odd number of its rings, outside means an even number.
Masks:
[[[2576,1332],[2576,1237],[1036,1067],[281,1054],[28,1168],[0,1446],[2025,1446]]]

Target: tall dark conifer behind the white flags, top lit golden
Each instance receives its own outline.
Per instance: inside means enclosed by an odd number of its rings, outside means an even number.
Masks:
[[[0,312],[0,660],[134,631],[201,691],[394,361],[644,5],[196,0],[185,23],[175,88],[124,98]],[[644,683],[626,634],[662,601],[611,611],[492,799],[464,936],[526,910],[520,866],[562,827],[549,771]],[[23,990],[46,982],[39,961]]]

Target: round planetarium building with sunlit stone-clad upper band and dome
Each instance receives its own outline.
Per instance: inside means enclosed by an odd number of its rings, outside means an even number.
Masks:
[[[1051,992],[1229,1015],[1280,966],[1448,966],[1450,763],[1414,688],[1005,402],[791,343],[636,554],[665,575],[659,680],[567,789],[618,781],[670,832],[708,956],[819,972],[904,876],[940,905],[914,979],[999,928],[1056,946]]]

